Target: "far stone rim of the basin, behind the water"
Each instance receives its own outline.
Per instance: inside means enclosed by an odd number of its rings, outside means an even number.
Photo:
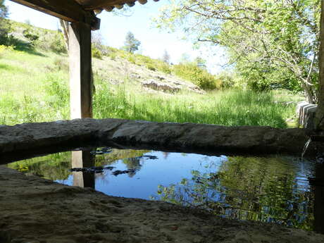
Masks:
[[[8,157],[105,144],[200,154],[292,154],[299,156],[312,130],[226,127],[143,120],[75,119],[0,126],[0,163]],[[308,154],[320,143],[312,142]]]

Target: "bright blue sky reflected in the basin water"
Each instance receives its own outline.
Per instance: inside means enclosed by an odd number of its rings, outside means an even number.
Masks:
[[[191,178],[192,170],[199,170],[202,173],[218,170],[225,156],[204,156],[200,154],[170,153],[166,157],[163,152],[151,151],[146,155],[157,156],[158,159],[141,158],[141,168],[136,174],[130,177],[127,174],[112,175],[110,170],[104,170],[103,174],[96,174],[96,190],[116,197],[136,197],[149,199],[156,195],[158,185],[168,186],[180,182],[182,178]],[[118,160],[109,166],[113,170],[127,170],[123,161]],[[73,175],[67,180],[56,180],[66,185],[73,185]]]

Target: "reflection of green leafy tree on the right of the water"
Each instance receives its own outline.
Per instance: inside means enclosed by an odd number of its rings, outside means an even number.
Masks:
[[[312,194],[297,188],[297,168],[280,158],[232,157],[218,171],[192,171],[191,179],[158,187],[158,199],[208,208],[216,215],[280,223],[311,230]]]

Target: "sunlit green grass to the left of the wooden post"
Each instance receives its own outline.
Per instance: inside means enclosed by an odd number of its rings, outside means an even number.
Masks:
[[[0,58],[0,124],[68,119],[68,97],[61,102],[68,96],[68,72],[58,70],[56,58],[24,51]]]

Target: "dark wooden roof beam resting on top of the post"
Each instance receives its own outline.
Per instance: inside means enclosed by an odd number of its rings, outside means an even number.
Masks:
[[[96,18],[93,11],[85,11],[75,0],[11,0],[18,4],[34,8],[37,11],[48,13],[57,18],[76,23],[86,23],[92,30],[99,30],[100,19]]]

